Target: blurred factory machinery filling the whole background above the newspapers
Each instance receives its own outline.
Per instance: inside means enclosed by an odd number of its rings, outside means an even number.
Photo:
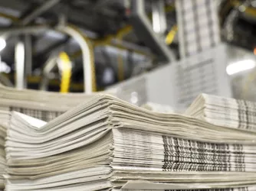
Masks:
[[[254,0],[0,1],[0,82],[185,108],[256,101]]]

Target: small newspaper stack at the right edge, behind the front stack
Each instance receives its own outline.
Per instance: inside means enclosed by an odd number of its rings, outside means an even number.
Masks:
[[[185,114],[214,125],[256,131],[255,102],[202,94],[195,99]]]

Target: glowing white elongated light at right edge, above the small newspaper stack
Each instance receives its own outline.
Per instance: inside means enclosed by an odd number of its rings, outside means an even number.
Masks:
[[[236,63],[231,63],[227,66],[226,71],[228,75],[233,75],[235,73],[241,73],[245,70],[253,69],[256,66],[254,60],[241,60]]]

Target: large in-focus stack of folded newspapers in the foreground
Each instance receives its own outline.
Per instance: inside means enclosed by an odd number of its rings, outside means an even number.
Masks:
[[[12,113],[5,189],[255,190],[255,141],[254,132],[96,95],[48,123]]]

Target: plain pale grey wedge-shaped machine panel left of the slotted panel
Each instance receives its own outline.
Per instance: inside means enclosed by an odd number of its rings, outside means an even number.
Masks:
[[[176,107],[177,98],[174,86],[173,70],[175,63],[161,66],[149,73],[133,77],[123,83],[111,86],[106,92],[135,105],[154,102]],[[133,102],[134,99],[137,102]]]

